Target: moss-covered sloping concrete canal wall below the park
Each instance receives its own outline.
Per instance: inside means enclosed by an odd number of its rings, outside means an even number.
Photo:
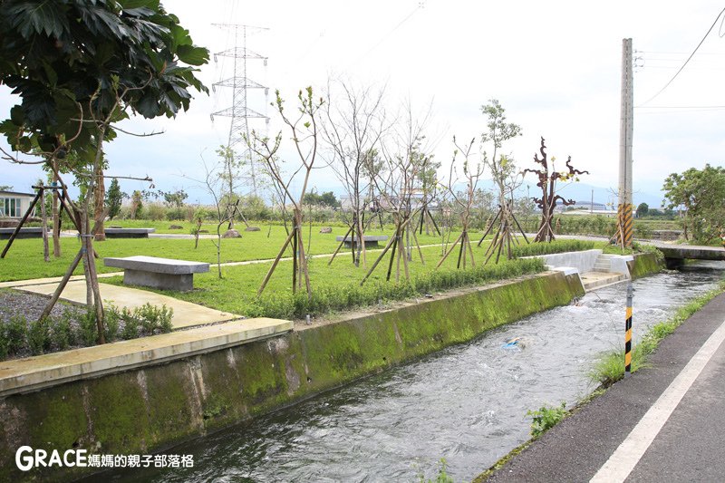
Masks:
[[[548,273],[0,400],[0,480],[20,473],[22,445],[147,454],[293,403],[391,364],[467,342],[500,324],[584,294]]]

